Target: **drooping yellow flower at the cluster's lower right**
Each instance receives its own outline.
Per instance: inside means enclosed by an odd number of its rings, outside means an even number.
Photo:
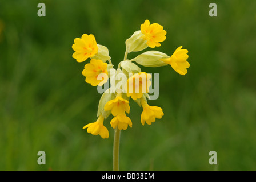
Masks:
[[[163,116],[163,110],[161,107],[157,106],[149,106],[146,100],[141,99],[141,105],[143,107],[143,111],[141,113],[141,123],[144,126],[145,121],[147,125],[151,125],[151,123],[155,122],[155,118],[161,119]]]

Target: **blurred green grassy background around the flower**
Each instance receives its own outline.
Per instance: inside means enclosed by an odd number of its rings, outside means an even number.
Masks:
[[[38,3],[46,17],[38,17]],[[218,16],[209,16],[217,3]],[[86,84],[86,62],[71,57],[75,38],[93,34],[109,48],[114,68],[125,40],[149,19],[167,31],[155,50],[189,50],[185,76],[159,73],[165,115],[142,126],[131,101],[133,128],[122,131],[121,170],[256,170],[256,1],[1,1],[0,169],[111,170],[109,139],[82,127],[97,119],[101,94]],[[147,48],[146,51],[149,51]],[[131,59],[138,55],[131,53]],[[46,165],[37,164],[38,151]],[[209,164],[217,151],[218,165]]]

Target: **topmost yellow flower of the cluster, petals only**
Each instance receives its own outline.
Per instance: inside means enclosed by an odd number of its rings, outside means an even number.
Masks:
[[[145,20],[141,24],[141,32],[144,34],[141,38],[147,40],[147,46],[154,48],[155,46],[159,47],[166,39],[166,31],[163,30],[163,26],[158,23],[150,24],[149,20]]]

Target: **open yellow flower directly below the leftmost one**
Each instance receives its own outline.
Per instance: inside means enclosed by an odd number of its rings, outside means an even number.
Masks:
[[[103,74],[104,73],[104,74]],[[93,86],[102,86],[107,82],[107,63],[99,59],[91,59],[90,63],[85,65],[82,74],[86,77],[85,81]]]

